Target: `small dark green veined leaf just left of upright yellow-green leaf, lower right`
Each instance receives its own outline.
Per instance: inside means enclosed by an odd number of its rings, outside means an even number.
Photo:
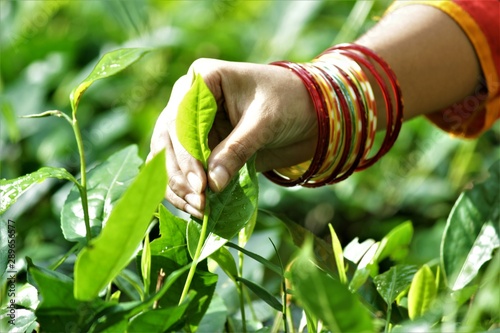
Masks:
[[[373,282],[384,301],[392,304],[398,295],[410,286],[416,271],[416,266],[396,265],[387,272],[375,276]]]

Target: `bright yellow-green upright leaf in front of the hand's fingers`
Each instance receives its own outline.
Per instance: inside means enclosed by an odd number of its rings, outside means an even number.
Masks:
[[[179,142],[207,169],[210,156],[208,132],[217,112],[217,102],[200,74],[195,74],[177,113],[176,126]]]

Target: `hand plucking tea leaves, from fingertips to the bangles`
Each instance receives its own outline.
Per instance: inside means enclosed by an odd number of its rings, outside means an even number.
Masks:
[[[212,153],[207,172],[176,135],[177,109],[190,88],[192,72],[201,74],[218,105],[209,134]],[[257,171],[306,161],[312,158],[316,141],[314,106],[302,81],[291,71],[273,65],[199,59],[175,83],[156,122],[148,158],[166,149],[166,198],[201,218],[207,184],[213,191],[223,190],[255,153]]]

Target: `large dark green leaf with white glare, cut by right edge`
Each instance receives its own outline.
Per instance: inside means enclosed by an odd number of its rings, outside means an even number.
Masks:
[[[490,178],[462,193],[453,207],[441,242],[441,260],[452,290],[466,286],[500,246],[500,161]]]

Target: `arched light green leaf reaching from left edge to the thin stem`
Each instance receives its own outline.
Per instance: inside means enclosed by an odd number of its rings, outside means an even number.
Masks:
[[[66,179],[80,186],[68,171],[63,168],[43,167],[38,171],[15,179],[0,179],[0,215],[7,211],[17,199],[32,185],[41,183],[47,178]]]

